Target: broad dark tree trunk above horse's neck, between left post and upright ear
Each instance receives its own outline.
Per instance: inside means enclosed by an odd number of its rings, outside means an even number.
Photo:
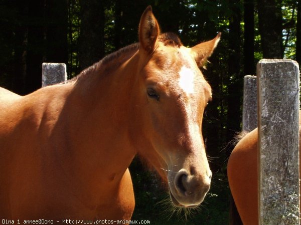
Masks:
[[[80,0],[79,64],[83,70],[104,56],[104,3]]]

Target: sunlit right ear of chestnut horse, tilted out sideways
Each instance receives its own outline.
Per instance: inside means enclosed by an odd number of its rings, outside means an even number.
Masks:
[[[217,46],[222,33],[218,33],[217,36],[208,42],[203,42],[191,48],[195,55],[195,60],[199,67],[204,67],[207,58],[211,56],[213,50]]]

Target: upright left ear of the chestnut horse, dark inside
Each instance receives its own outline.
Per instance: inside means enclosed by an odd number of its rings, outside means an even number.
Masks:
[[[153,14],[152,7],[148,6],[142,14],[139,23],[140,47],[147,53],[153,52],[159,33],[159,24]]]

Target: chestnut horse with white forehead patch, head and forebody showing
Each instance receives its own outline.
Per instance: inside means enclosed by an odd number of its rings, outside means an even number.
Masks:
[[[2,88],[2,218],[127,221],[136,154],[154,166],[176,206],[198,206],[212,176],[202,136],[212,94],[200,68],[220,36],[186,48],[160,32],[147,7],[138,43],[74,79],[26,96]]]

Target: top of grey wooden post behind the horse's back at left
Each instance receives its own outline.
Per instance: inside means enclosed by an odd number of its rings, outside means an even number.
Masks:
[[[42,64],[42,87],[58,84],[67,80],[66,64],[43,63]]]

